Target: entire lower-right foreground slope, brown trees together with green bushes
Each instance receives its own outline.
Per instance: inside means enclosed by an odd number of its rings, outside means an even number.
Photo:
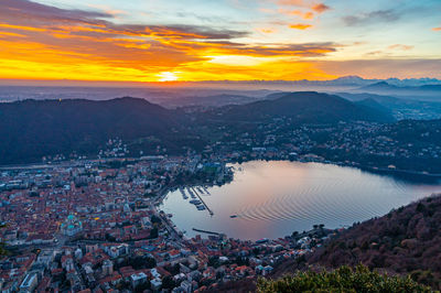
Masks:
[[[355,224],[268,279],[222,292],[432,292],[441,289],[441,195]],[[355,269],[354,269],[355,268]]]

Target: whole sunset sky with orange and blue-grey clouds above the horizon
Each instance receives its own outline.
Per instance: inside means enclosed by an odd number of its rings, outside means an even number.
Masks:
[[[441,0],[0,0],[0,78],[441,78]]]

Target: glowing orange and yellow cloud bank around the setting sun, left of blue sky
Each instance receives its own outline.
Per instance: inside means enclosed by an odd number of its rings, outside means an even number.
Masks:
[[[244,80],[297,78],[303,70],[302,78],[323,79],[329,75],[301,59],[324,56],[338,46],[250,44],[239,42],[249,35],[246,31],[125,24],[112,22],[109,13],[65,10],[26,0],[2,1],[0,78]],[[298,30],[311,26],[291,25]]]

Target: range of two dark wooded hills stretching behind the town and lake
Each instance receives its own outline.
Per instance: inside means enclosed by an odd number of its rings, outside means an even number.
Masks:
[[[338,96],[288,93],[271,100],[230,105],[185,113],[165,109],[139,98],[104,101],[24,100],[0,104],[0,164],[40,162],[44,155],[97,154],[109,139],[119,138],[131,155],[139,151],[183,153],[202,150],[207,138],[200,130],[211,121],[228,126],[246,121],[263,123],[290,118],[293,124],[338,121],[390,122],[394,118],[373,105],[348,101]]]

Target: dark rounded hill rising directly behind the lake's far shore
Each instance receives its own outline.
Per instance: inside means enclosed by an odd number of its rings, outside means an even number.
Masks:
[[[381,107],[378,105],[378,107]],[[246,105],[215,108],[203,116],[205,120],[269,121],[287,117],[293,123],[335,123],[338,121],[391,122],[386,109],[378,110],[335,95],[316,91],[278,93],[267,99]]]

